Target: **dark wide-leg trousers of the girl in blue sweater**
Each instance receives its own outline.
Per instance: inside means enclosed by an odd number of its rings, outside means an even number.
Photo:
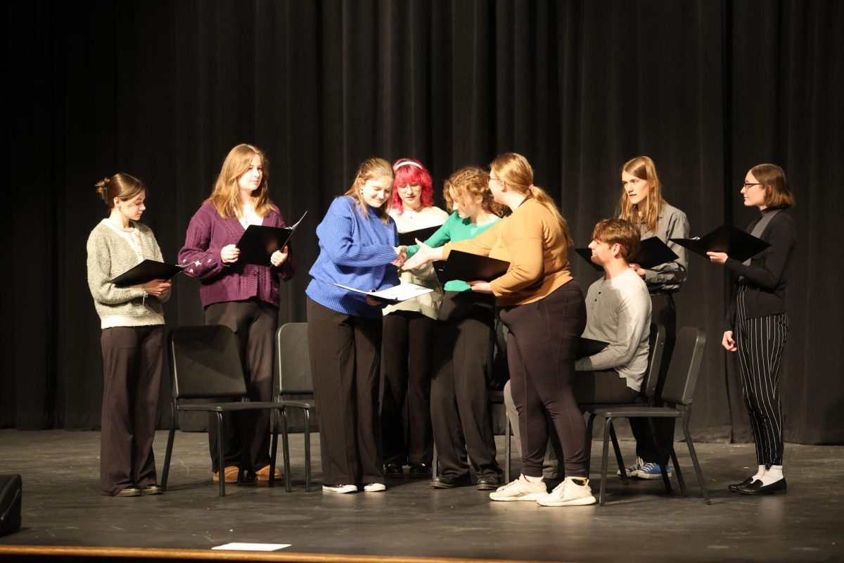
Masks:
[[[307,298],[322,482],[383,483],[378,376],[381,317],[346,315]]]

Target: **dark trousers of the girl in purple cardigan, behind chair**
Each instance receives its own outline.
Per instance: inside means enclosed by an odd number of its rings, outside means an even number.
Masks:
[[[251,401],[273,400],[273,335],[278,323],[278,307],[261,300],[225,301],[205,308],[205,324],[224,325],[237,337],[246,393]],[[216,420],[215,414],[208,415],[208,447],[211,468],[219,471]],[[240,466],[243,453],[246,453],[248,466],[241,470],[253,473],[269,464],[269,421],[268,410],[225,414],[223,457],[226,466]]]

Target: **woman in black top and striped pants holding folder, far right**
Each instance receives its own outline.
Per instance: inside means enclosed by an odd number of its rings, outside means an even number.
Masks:
[[[769,164],[748,171],[741,193],[745,206],[755,206],[761,212],[748,231],[771,246],[744,263],[724,252],[706,254],[713,263],[724,264],[738,275],[721,344],[738,352],[738,373],[759,464],[755,475],[728,489],[743,495],[766,495],[786,490],[779,371],[788,333],[786,285],[797,239],[794,221],[785,209],[793,207],[794,197],[785,171]]]

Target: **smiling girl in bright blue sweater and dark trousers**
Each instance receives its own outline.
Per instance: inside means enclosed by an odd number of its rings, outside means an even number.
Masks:
[[[392,181],[387,160],[365,160],[317,226],[320,253],[306,294],[323,492],[386,490],[378,416],[382,305],[334,284],[398,285],[405,252],[387,214]]]

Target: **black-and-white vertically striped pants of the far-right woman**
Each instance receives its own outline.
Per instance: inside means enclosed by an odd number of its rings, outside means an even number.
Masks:
[[[788,334],[786,313],[744,318],[746,286],[738,288],[736,327],[733,338],[738,348],[738,375],[744,404],[756,442],[759,465],[782,465],[783,425],[780,404],[780,365]]]

